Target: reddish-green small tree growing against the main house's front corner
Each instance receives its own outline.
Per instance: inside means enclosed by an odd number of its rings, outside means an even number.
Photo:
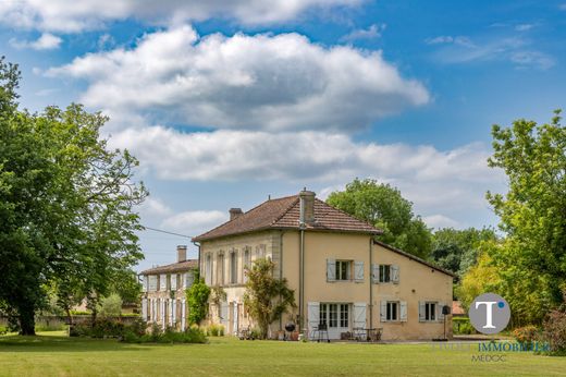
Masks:
[[[295,292],[287,287],[286,279],[273,277],[275,264],[270,259],[258,259],[251,268],[246,267],[247,282],[244,305],[259,326],[261,339],[267,339],[269,325],[280,318],[290,307],[296,307]]]

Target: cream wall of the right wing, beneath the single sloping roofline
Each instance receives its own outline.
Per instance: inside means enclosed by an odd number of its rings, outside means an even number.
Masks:
[[[453,278],[381,245],[373,245],[373,263],[399,266],[398,284],[373,284],[373,323],[383,328],[383,339],[442,338],[443,323],[419,323],[419,301],[436,301],[452,306]],[[406,301],[407,321],[381,323],[381,300]],[[446,316],[446,333],[452,336],[452,316]]]

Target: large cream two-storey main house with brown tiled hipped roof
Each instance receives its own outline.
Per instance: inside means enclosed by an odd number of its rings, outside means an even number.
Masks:
[[[444,328],[450,337],[443,308],[452,303],[454,276],[380,242],[381,233],[309,191],[247,212],[232,208],[227,222],[193,239],[206,283],[226,293],[211,305],[210,320],[229,333],[254,326],[243,304],[244,270],[270,258],[297,303],[271,324],[272,336],[293,321],[308,333],[327,324],[331,339],[356,328],[382,329],[382,339],[444,338]]]

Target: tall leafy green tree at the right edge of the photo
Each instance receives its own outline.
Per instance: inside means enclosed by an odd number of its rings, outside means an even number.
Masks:
[[[507,175],[505,195],[487,197],[506,233],[491,254],[501,291],[514,312],[533,323],[562,303],[566,288],[566,127],[524,119],[492,129],[489,166]]]

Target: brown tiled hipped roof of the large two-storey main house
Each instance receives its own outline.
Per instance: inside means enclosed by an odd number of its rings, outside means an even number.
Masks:
[[[298,195],[269,199],[235,219],[194,238],[193,241],[205,241],[266,229],[298,230],[299,207]],[[315,199],[315,222],[306,224],[305,229],[368,234],[382,233],[369,223],[319,199]]]

